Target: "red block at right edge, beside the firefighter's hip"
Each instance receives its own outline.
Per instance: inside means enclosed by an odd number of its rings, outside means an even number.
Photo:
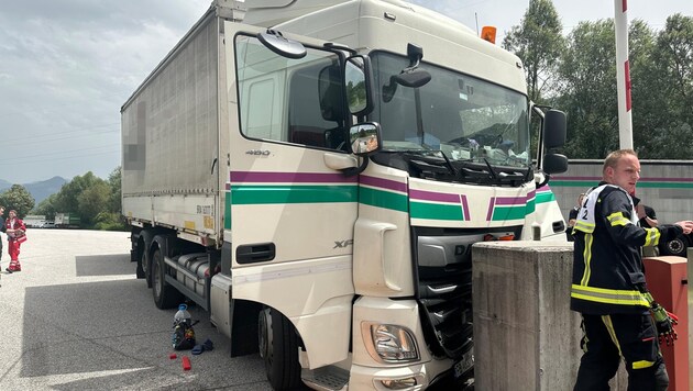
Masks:
[[[689,259],[691,248],[689,248]],[[679,317],[674,328],[679,339],[673,344],[661,346],[670,391],[688,391],[689,379],[689,277],[688,259],[683,257],[649,257],[644,259],[645,278],[652,297],[664,309]]]

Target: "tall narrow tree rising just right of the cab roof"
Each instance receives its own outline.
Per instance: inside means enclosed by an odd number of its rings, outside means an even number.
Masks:
[[[525,67],[529,99],[543,103],[543,92],[558,81],[557,59],[565,49],[561,20],[551,0],[529,0],[520,21],[503,40],[503,47],[515,53]]]

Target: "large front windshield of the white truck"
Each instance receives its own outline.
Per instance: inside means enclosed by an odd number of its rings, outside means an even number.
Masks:
[[[384,52],[371,54],[384,150],[440,150],[453,164],[472,161],[528,168],[527,97],[469,75],[430,64],[420,69],[431,81],[418,89],[396,85],[393,76],[409,59]]]

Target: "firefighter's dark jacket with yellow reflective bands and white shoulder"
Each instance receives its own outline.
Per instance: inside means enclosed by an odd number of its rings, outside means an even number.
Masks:
[[[620,187],[600,183],[585,197],[573,227],[571,310],[595,315],[642,313],[649,302],[641,246],[683,233],[678,225],[638,226],[632,198]]]

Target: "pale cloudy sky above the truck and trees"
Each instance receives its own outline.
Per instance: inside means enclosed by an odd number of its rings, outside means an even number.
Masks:
[[[300,1],[300,0],[299,0]],[[616,0],[620,1],[620,0]],[[501,43],[529,0],[413,0]],[[0,0],[0,179],[30,183],[121,161],[120,108],[209,8],[210,0]],[[614,1],[553,0],[568,34],[613,18]],[[630,0],[653,30],[693,15],[691,0]]]

